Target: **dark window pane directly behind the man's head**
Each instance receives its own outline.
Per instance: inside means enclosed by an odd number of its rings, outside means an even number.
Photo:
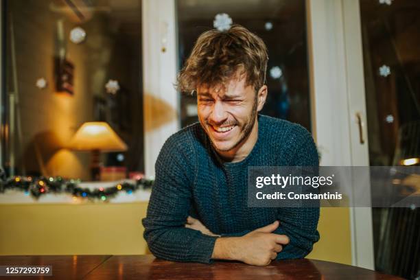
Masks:
[[[305,1],[178,0],[179,68],[198,36],[213,29],[216,14],[228,14],[261,37],[268,47],[268,98],[261,113],[310,130]],[[197,121],[196,97],[181,97],[181,125]]]

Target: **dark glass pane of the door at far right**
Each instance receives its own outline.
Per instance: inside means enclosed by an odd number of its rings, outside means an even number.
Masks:
[[[360,0],[369,164],[420,165],[420,2]],[[375,268],[420,278],[420,211],[373,208]]]

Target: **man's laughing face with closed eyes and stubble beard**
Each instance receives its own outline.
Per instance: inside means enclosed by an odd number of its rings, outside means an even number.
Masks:
[[[197,89],[198,119],[218,152],[229,152],[246,141],[262,108],[253,86],[245,84],[245,78],[234,78],[227,86]]]

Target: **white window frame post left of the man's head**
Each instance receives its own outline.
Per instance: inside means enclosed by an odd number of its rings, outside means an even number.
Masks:
[[[154,163],[163,143],[180,128],[177,73],[176,11],[174,0],[143,0],[143,118],[145,175],[154,176]],[[165,51],[163,51],[165,49]],[[159,104],[170,106],[172,121],[154,127]],[[167,113],[167,112],[164,112]]]

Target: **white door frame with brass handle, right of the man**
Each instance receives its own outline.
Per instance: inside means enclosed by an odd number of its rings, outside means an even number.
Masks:
[[[306,3],[312,122],[321,165],[369,166],[366,121],[360,143],[355,119],[356,113],[366,119],[359,1]],[[351,207],[350,221],[352,264],[374,269],[371,208]]]

